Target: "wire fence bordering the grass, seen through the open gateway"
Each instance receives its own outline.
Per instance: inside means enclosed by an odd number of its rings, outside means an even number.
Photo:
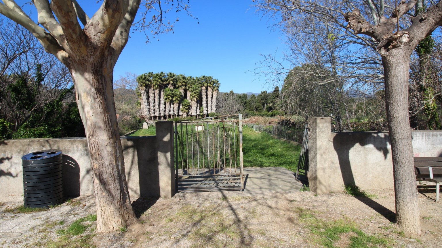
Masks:
[[[257,132],[265,132],[274,137],[291,140],[297,143],[302,143],[302,137],[305,129],[304,124],[300,125],[299,127],[287,127],[281,124],[249,124],[248,126]]]

